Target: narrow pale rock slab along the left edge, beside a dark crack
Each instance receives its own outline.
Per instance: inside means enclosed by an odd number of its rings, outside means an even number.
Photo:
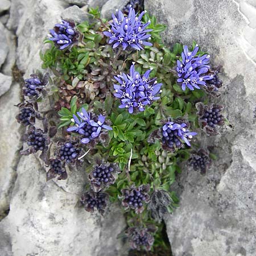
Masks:
[[[10,79],[11,84],[11,77],[8,77],[8,79]],[[2,84],[0,86],[2,88]],[[15,119],[18,108],[14,106],[17,103],[19,103],[19,84],[13,84],[9,92],[0,98],[0,220],[9,209],[10,193],[15,181],[15,168],[19,159],[17,151],[20,148],[20,134],[19,124]]]

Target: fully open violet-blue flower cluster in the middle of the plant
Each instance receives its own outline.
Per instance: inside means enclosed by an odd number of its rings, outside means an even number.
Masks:
[[[120,98],[119,108],[127,108],[129,113],[134,109],[144,111],[146,105],[150,105],[153,100],[158,100],[156,94],[161,92],[162,84],[158,84],[156,77],[150,79],[151,70],[148,69],[142,76],[135,71],[134,63],[130,67],[130,73],[115,76],[119,84],[114,84],[114,96]]]

